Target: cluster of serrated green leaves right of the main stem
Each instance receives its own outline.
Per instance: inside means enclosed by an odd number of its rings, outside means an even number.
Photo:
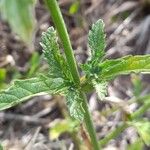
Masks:
[[[90,58],[81,65],[86,80],[91,82],[101,100],[107,94],[109,81],[116,76],[150,72],[150,55],[128,55],[118,59],[106,59],[105,37],[104,22],[100,19],[92,25],[92,29],[89,31]]]

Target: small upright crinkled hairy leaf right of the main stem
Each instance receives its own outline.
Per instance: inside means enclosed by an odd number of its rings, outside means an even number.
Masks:
[[[87,63],[80,66],[88,78],[93,78],[100,72],[98,64],[100,61],[102,61],[102,58],[105,54],[105,36],[104,23],[101,19],[99,19],[95,24],[92,25],[92,29],[89,31],[88,35],[91,57]]]

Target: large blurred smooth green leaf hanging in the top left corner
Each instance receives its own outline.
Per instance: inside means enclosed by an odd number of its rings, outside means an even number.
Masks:
[[[0,11],[3,18],[27,44],[31,44],[35,28],[34,4],[33,0],[0,1]]]

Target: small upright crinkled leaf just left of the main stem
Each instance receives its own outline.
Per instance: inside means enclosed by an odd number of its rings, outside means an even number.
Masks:
[[[50,75],[52,77],[62,77],[72,80],[70,69],[60,54],[58,37],[53,27],[48,28],[48,30],[42,34],[41,46],[43,47],[44,56],[50,67]]]

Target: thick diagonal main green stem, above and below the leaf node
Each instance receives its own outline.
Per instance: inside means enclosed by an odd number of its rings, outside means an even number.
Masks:
[[[76,61],[74,58],[73,49],[71,46],[69,35],[67,32],[60,8],[58,6],[58,3],[56,0],[44,0],[44,1],[51,13],[51,17],[58,31],[61,42],[63,44],[67,63],[70,67],[70,71],[72,73],[73,79],[75,83],[77,83],[77,85],[80,86],[80,77],[79,77],[79,73],[77,70],[77,65],[76,65]],[[94,130],[94,126],[91,120],[91,115],[89,113],[86,96],[83,92],[81,92],[80,97],[83,100],[83,107],[85,110],[84,122],[86,124],[87,131],[91,138],[92,147],[94,150],[100,150],[98,140],[96,138],[96,132]]]

